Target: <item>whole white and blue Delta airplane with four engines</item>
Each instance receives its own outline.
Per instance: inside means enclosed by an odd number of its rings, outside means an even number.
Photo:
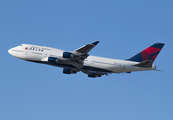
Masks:
[[[62,67],[64,74],[82,71],[88,77],[95,78],[111,73],[157,70],[153,62],[164,46],[164,43],[155,43],[129,59],[119,60],[89,55],[88,52],[98,43],[95,41],[74,51],[21,44],[8,52],[22,60]]]

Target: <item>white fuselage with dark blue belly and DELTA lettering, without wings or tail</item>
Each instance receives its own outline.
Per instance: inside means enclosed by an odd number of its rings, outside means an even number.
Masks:
[[[55,49],[51,47],[30,45],[30,44],[22,44],[20,46],[14,47],[8,51],[11,55],[38,63],[48,64],[48,57],[56,57],[60,59],[66,60],[66,58],[62,57],[64,50]],[[96,72],[107,72],[107,73],[121,73],[121,72],[132,72],[132,71],[146,71],[146,70],[155,70],[156,67],[153,64],[151,68],[142,68],[133,66],[138,62],[128,61],[128,60],[118,60],[118,59],[110,59],[104,57],[97,56],[88,56],[84,60],[83,68],[78,69],[69,64],[57,64],[54,66],[69,68],[75,70],[83,70],[83,71],[96,71]]]

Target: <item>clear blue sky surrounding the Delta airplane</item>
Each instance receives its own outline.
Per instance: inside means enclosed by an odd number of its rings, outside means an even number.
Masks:
[[[88,78],[30,63],[22,43],[127,59],[155,42],[162,72]],[[1,0],[0,120],[173,120],[172,0]]]

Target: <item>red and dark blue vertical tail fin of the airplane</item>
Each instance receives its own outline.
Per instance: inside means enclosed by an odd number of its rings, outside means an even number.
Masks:
[[[143,62],[146,60],[154,61],[164,45],[164,43],[155,43],[128,60],[135,62]]]

